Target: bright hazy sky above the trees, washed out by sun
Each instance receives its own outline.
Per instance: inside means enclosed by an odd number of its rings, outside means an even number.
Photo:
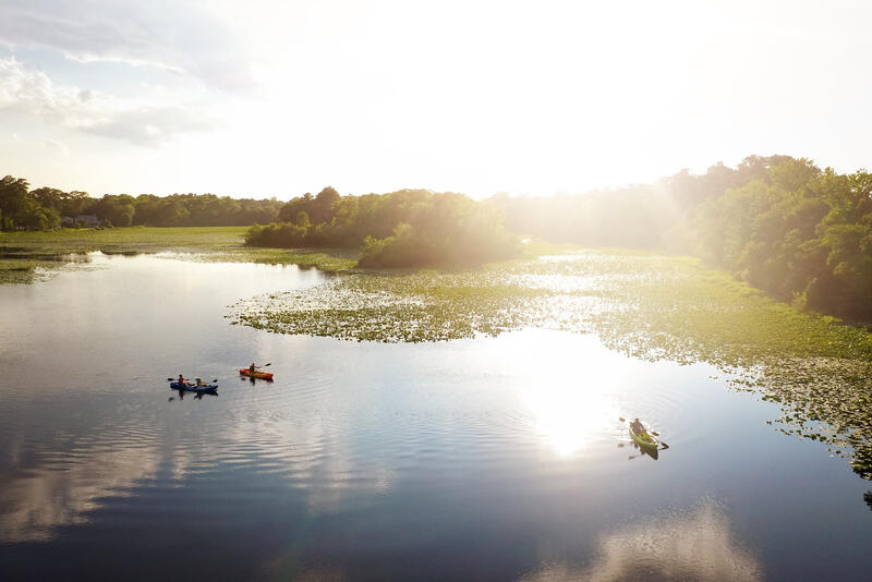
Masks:
[[[872,167],[872,2],[0,0],[0,175],[553,194]]]

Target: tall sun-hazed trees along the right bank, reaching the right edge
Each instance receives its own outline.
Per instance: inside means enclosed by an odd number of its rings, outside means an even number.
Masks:
[[[492,202],[555,242],[693,254],[801,308],[872,322],[872,174],[749,156],[653,184]]]

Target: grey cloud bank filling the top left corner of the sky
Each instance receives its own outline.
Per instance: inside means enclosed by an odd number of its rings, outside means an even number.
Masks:
[[[254,85],[249,54],[207,3],[109,0],[7,0],[0,44],[44,47],[81,62],[121,62],[190,74],[244,93]]]

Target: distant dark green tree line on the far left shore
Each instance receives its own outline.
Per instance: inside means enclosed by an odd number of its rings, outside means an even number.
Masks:
[[[29,189],[27,180],[7,175],[0,180],[0,228],[48,230],[75,226],[75,217],[94,215],[99,225],[113,227],[245,227],[278,219],[283,202],[215,194],[106,194],[53,187]],[[63,221],[69,217],[68,221]]]

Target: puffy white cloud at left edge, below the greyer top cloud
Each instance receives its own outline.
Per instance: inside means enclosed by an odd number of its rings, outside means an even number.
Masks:
[[[0,110],[37,117],[46,123],[140,145],[214,129],[214,119],[172,104],[134,104],[113,95],[59,85],[14,57],[0,59]],[[56,148],[57,150],[57,148]]]

